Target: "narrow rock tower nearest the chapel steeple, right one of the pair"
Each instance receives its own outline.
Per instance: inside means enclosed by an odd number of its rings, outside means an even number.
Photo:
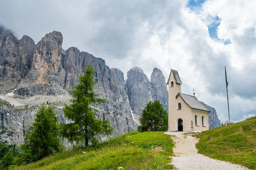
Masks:
[[[164,109],[168,109],[168,91],[164,75],[158,68],[154,68],[151,77],[151,84],[153,85],[153,97],[155,100],[160,100]]]

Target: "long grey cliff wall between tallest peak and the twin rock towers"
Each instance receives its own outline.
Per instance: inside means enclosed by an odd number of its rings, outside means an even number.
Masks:
[[[87,52],[80,52],[76,47],[70,47],[65,52],[63,64],[66,72],[65,89],[71,89],[77,84],[77,75],[82,75],[88,64],[95,70],[95,93],[106,98],[105,104],[93,105],[99,109],[96,116],[109,120],[115,127],[115,134],[136,129],[132,118],[131,107],[127,95],[124,73],[116,68],[109,68],[101,58],[95,58]]]

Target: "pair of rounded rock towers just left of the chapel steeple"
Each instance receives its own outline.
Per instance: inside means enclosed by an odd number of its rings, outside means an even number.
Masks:
[[[137,117],[141,116],[149,101],[160,100],[164,109],[168,109],[168,91],[161,70],[154,68],[150,81],[141,68],[134,67],[127,73],[127,92],[131,109]]]

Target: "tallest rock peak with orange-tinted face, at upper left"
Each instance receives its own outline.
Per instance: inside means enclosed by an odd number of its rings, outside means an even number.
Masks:
[[[53,31],[42,38],[36,45],[33,56],[33,70],[35,70],[35,84],[59,83],[64,82],[63,68],[61,65],[63,37],[60,32]],[[60,77],[60,79],[56,79]],[[62,78],[62,80],[61,80]]]

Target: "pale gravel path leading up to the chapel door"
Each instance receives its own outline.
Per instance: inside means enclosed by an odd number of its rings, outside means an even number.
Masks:
[[[177,169],[248,169],[197,153],[195,144],[198,143],[198,139],[196,137],[184,135],[182,132],[164,132],[164,134],[175,135],[172,137],[175,141],[175,148],[173,148],[175,157],[172,157],[172,164]]]

